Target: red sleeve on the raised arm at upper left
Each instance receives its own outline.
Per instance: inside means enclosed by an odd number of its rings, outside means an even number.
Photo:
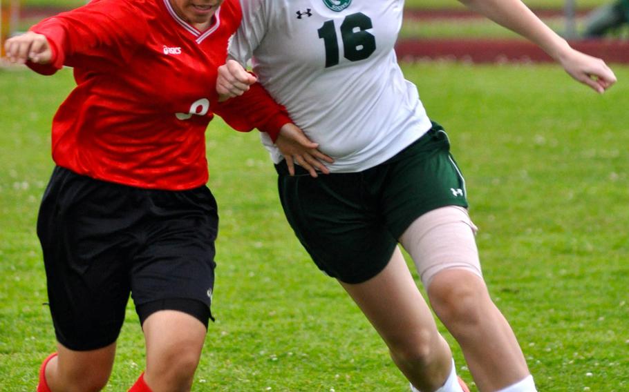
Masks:
[[[93,69],[123,64],[147,35],[147,24],[127,1],[93,0],[86,6],[44,19],[30,28],[46,36],[50,64],[27,62],[35,72],[52,75],[62,66],[90,63]],[[99,67],[100,64],[100,67]]]

